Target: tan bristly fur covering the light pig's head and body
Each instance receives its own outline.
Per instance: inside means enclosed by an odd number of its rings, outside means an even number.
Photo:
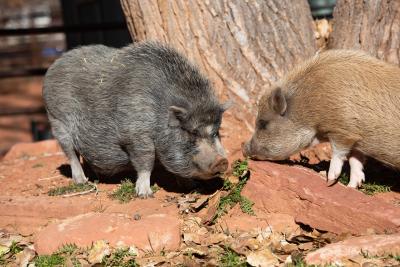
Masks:
[[[263,97],[256,131],[264,152],[295,153],[314,137],[329,138],[344,150],[356,150],[400,168],[400,69],[361,51],[328,50],[279,81],[286,101],[285,116],[274,123],[274,111]],[[261,145],[262,144],[262,145]]]

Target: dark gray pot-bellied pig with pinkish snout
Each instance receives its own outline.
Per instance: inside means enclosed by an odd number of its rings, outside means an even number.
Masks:
[[[219,128],[224,105],[210,82],[174,49],[152,42],[93,45],[65,53],[47,71],[43,97],[76,183],[133,166],[136,192],[152,195],[157,158],[181,177],[209,179],[228,167]]]

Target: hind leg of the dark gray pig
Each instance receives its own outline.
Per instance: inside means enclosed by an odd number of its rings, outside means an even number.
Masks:
[[[62,122],[56,119],[51,119],[50,115],[49,119],[51,121],[53,135],[57,138],[71,165],[72,179],[77,184],[86,183],[88,179],[83,172],[78,154],[73,147],[71,136],[69,135],[68,131],[65,130],[65,126]]]

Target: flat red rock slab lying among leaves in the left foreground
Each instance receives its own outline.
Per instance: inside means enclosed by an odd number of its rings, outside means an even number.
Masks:
[[[113,247],[136,246],[144,252],[177,250],[180,246],[180,222],[159,213],[135,220],[126,214],[88,213],[50,224],[35,240],[39,255],[51,254],[63,244],[90,246],[106,240]]]

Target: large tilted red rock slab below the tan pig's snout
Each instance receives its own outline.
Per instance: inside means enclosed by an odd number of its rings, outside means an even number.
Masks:
[[[333,233],[398,232],[400,207],[297,166],[250,161],[243,194],[265,213],[292,215],[297,223]],[[258,215],[257,215],[258,216]]]

